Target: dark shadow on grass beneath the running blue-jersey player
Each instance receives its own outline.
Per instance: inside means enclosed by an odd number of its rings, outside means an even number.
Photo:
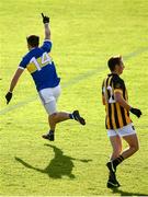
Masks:
[[[75,158],[65,155],[64,152],[55,146],[52,146],[52,144],[45,144],[45,146],[53,148],[53,150],[55,152],[55,157],[53,160],[50,160],[49,164],[43,170],[32,166],[31,164],[26,163],[25,161],[23,161],[20,158],[15,157],[15,160],[18,162],[22,163],[25,167],[47,174],[52,178],[61,178],[62,176],[68,176],[69,178],[75,178],[75,175],[72,174],[72,169],[75,166],[72,161],[73,160],[77,160],[80,162],[92,161],[92,160],[75,159]]]

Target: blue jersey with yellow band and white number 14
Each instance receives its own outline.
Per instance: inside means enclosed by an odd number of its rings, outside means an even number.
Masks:
[[[29,51],[20,62],[19,68],[27,69],[31,73],[37,91],[54,88],[59,84],[55,63],[49,55],[52,42],[45,40],[42,47],[35,47]]]

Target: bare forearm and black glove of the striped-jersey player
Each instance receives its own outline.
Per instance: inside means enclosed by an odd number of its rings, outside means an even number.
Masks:
[[[138,118],[141,116],[141,112],[138,108],[134,108],[130,105],[128,105],[128,103],[124,100],[121,91],[115,91],[114,92],[114,97],[115,101],[123,106],[124,108],[126,108],[127,111],[130,111],[130,113],[133,113],[134,115],[136,115]]]

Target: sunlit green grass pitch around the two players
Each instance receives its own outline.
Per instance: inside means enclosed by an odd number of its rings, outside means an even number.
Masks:
[[[22,56],[25,37],[41,35],[41,13],[49,14],[52,56],[61,78],[59,111],[79,109],[84,127],[69,120],[57,126],[56,141],[47,115],[25,71],[7,106],[4,95]],[[0,195],[92,196],[148,195],[148,1],[1,0],[0,1]],[[132,115],[140,150],[118,167],[118,190],[106,188],[111,154],[104,128],[101,83],[110,56],[123,55]],[[124,142],[124,147],[126,143]]]

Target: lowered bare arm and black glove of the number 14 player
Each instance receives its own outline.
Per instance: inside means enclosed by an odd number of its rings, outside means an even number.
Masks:
[[[14,90],[18,81],[19,81],[19,78],[20,78],[21,74],[23,73],[23,71],[24,71],[24,70],[21,69],[21,68],[18,68],[18,70],[15,71],[15,73],[14,73],[12,80],[11,80],[11,83],[10,83],[10,89],[9,89],[7,95],[5,95],[7,104],[9,104],[9,102],[11,101],[11,99],[12,99],[12,92],[13,92],[13,90]]]

